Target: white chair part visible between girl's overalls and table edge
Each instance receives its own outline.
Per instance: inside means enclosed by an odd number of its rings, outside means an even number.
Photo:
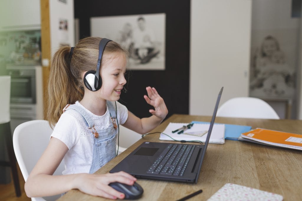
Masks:
[[[119,125],[120,128],[120,146],[118,148],[118,154],[125,151],[128,147],[136,143],[142,138],[142,135],[130,130],[122,125]],[[116,145],[117,146],[117,145]]]

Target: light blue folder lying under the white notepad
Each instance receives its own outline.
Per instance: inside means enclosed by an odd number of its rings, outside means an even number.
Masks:
[[[192,121],[191,123],[194,124],[210,124],[210,122],[205,121]],[[215,123],[220,124],[220,123]],[[251,126],[242,126],[242,125],[235,125],[235,124],[224,124],[225,125],[225,133],[224,138],[226,140],[238,140],[241,133],[245,133],[252,129]]]

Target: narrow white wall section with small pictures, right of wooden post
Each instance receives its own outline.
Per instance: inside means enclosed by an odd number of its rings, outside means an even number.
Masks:
[[[52,54],[63,44],[74,46],[74,7],[73,0],[67,0],[66,3],[58,0],[49,1],[49,18],[50,18],[50,41]],[[67,20],[68,30],[59,30],[59,21]]]

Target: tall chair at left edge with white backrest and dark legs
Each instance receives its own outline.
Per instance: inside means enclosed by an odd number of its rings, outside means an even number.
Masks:
[[[16,196],[21,196],[21,189],[17,171],[16,157],[14,155],[13,142],[11,137],[11,117],[10,117],[10,95],[11,76],[0,76],[0,134],[5,138],[8,161],[0,161],[1,166],[11,167]],[[4,154],[3,154],[4,155]]]

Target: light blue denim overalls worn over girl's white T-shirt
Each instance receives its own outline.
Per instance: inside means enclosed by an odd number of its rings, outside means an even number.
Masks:
[[[88,112],[76,104],[67,105],[63,110],[66,111],[73,109],[79,112],[87,127],[92,131],[91,137],[93,138],[93,153],[89,174],[94,173],[116,156],[116,138],[118,129],[115,124],[115,120],[117,118],[116,109],[110,101],[107,101],[106,105],[110,112],[113,124],[109,124],[109,128],[104,130],[95,130],[93,121]]]

